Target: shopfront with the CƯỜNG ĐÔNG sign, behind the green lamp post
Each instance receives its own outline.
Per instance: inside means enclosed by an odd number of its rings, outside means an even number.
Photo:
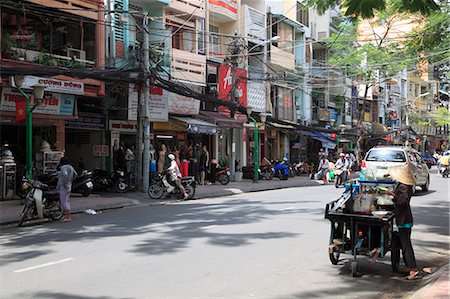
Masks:
[[[32,104],[37,103],[32,96],[32,87],[36,84],[45,86],[44,98],[33,111],[33,159],[34,167],[39,171],[43,171],[45,167],[42,161],[42,144],[46,145],[46,151],[64,154],[66,150],[65,121],[77,118],[77,97],[86,93],[87,86],[84,82],[65,79],[67,80],[25,76],[21,86],[22,90],[29,94]],[[13,84],[13,80],[10,82]],[[23,169],[25,161],[26,132],[25,121],[16,120],[16,103],[25,102],[25,100],[14,85],[5,86],[4,84],[1,88],[1,140],[2,143],[9,143],[18,162],[19,171]]]

